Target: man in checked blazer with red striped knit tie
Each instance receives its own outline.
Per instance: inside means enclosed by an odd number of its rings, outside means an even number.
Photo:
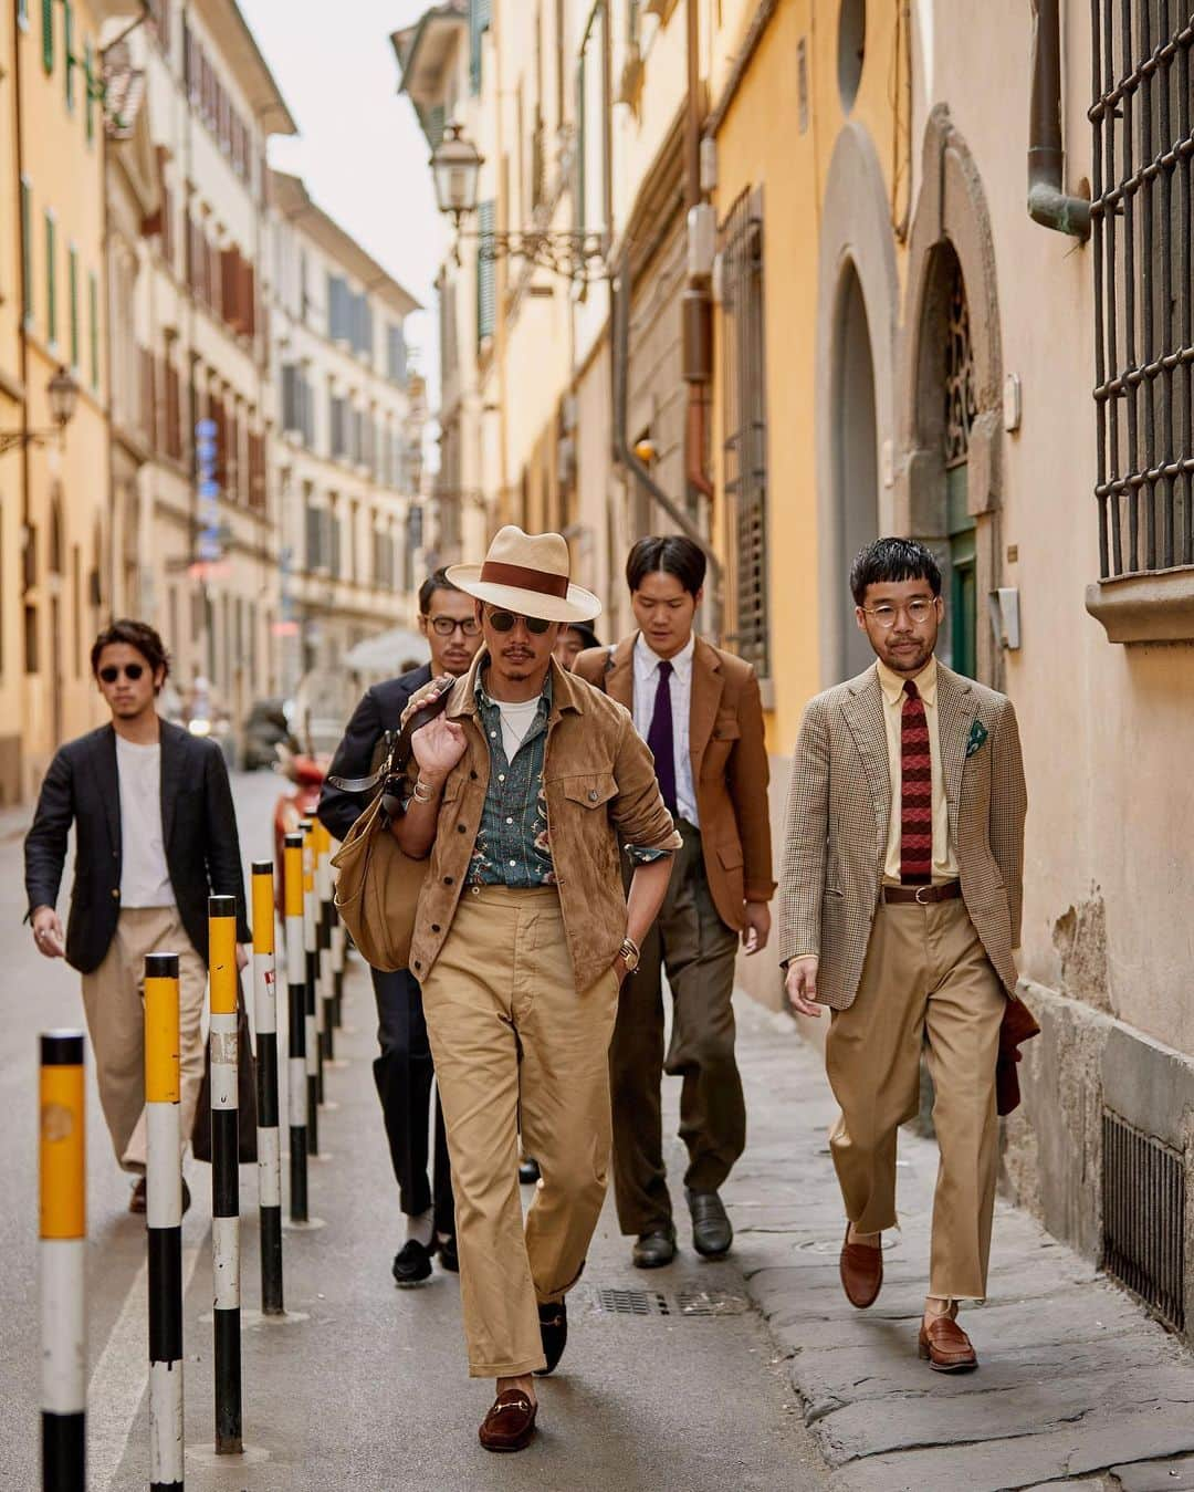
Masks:
[[[996,1061],[1015,998],[1027,795],[1009,700],[935,658],[945,615],[932,552],[863,549],[850,577],[875,667],[812,700],[792,767],[780,953],[792,1007],[832,1009],[830,1150],[848,1219],[853,1306],[882,1286],[896,1226],[896,1132],[918,1109],[920,1053],[941,1149],[918,1350],[978,1359],[960,1300],[987,1292],[997,1168]]]

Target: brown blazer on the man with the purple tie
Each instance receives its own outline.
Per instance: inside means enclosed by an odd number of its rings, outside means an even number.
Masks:
[[[635,643],[590,648],[574,671],[634,715]],[[717,915],[741,932],[744,901],[771,901],[771,819],[763,706],[754,668],[696,639],[692,662],[689,749],[701,816],[705,876]]]

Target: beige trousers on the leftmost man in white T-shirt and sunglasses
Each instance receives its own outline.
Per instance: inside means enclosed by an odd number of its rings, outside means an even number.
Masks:
[[[83,1010],[100,1106],[116,1159],[125,1171],[145,1171],[145,956],[179,955],[179,1123],[191,1137],[203,1085],[203,997],[207,970],[179,918],[177,907],[127,907],[103,962],[83,974]]]

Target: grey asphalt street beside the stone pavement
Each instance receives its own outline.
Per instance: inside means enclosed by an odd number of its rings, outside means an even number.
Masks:
[[[268,773],[237,776],[241,849],[270,853]],[[78,976],[36,953],[24,913],[21,818],[0,818],[0,1488],[39,1485],[36,1035],[82,1019]],[[63,904],[64,909],[64,904]],[[459,1289],[437,1274],[395,1289],[397,1188],[370,1061],[373,998],[358,964],[346,989],[343,1065],[328,1073],[312,1162],[312,1213],[325,1226],[288,1232],[289,1319],[246,1322],[244,1458],[213,1440],[209,1171],[186,1162],[195,1206],[183,1229],[186,1485],[198,1492],[713,1492],[824,1488],[783,1353],[750,1300],[751,1243],[707,1264],[689,1244],[668,1270],[629,1264],[607,1207],[586,1277],[569,1300],[565,1359],[540,1391],[541,1434],[520,1456],[486,1455],[477,1423],[489,1385],[465,1376]],[[285,1050],[285,1047],[283,1047]],[[671,1088],[672,1085],[669,1085]],[[92,1492],[148,1485],[145,1226],[127,1212],[130,1182],[112,1158],[94,1083],[88,1110],[88,1404]],[[674,1094],[669,1094],[674,1126]],[[285,1113],[285,1106],[283,1106]],[[674,1176],[680,1155],[669,1156]],[[285,1167],[283,1167],[285,1173]],[[678,1197],[678,1183],[674,1183]],[[529,1200],[529,1194],[528,1200]],[[683,1200],[680,1201],[683,1212]],[[241,1171],[243,1303],[259,1301],[256,1177]],[[207,1319],[204,1319],[207,1317]]]

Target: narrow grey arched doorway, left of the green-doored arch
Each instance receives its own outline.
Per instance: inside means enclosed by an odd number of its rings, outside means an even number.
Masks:
[[[835,603],[842,609],[838,677],[850,679],[872,661],[866,636],[854,625],[847,577],[854,555],[878,537],[879,463],[875,416],[875,364],[866,303],[853,260],[838,291],[833,357],[833,516]]]

